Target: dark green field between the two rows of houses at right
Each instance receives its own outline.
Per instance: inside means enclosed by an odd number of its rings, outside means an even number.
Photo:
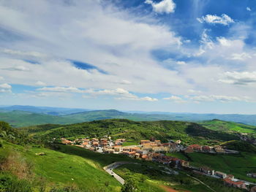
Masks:
[[[216,171],[233,174],[238,179],[256,183],[255,178],[246,176],[248,172],[256,172],[255,153],[241,153],[239,155],[189,153],[187,155],[195,166],[206,165]]]

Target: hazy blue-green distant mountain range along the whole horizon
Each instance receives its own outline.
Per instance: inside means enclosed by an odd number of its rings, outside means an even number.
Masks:
[[[70,124],[103,119],[129,119],[135,121],[181,120],[201,122],[225,120],[256,126],[256,115],[219,115],[171,112],[120,112],[118,110],[83,110],[59,107],[9,106],[0,107],[0,120],[12,126],[33,126],[45,123]]]

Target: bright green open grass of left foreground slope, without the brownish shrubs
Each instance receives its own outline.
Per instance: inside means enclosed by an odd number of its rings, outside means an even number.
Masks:
[[[120,191],[121,185],[102,169],[101,164],[91,160],[90,153],[85,153],[86,155],[80,157],[42,147],[22,147],[4,142],[4,148],[0,149],[0,156],[10,151],[20,153],[22,158],[34,164],[35,177],[44,177],[48,183],[75,184],[80,188],[105,188],[106,191]],[[41,152],[46,155],[35,155]],[[105,187],[105,182],[109,183],[108,188]]]

